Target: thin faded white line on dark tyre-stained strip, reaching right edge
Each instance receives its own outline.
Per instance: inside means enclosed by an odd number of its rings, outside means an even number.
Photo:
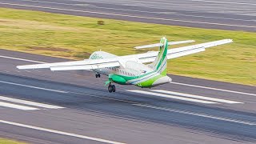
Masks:
[[[242,120],[233,119],[233,118],[223,118],[223,117],[218,117],[218,116],[209,115],[209,114],[200,114],[200,113],[194,113],[194,112],[185,111],[185,110],[176,110],[176,109],[163,108],[158,106],[150,106],[150,105],[142,105],[142,104],[132,104],[132,105],[152,108],[156,110],[166,110],[166,111],[179,113],[179,114],[189,114],[189,115],[194,115],[194,116],[203,117],[203,118],[218,119],[220,121],[235,122],[235,123],[240,123],[244,125],[256,126],[255,122],[247,122],[247,121],[242,121]]]

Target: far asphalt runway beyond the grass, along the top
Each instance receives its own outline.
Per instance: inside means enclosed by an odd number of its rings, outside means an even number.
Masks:
[[[254,0],[0,0],[0,7],[174,26],[256,31]]]

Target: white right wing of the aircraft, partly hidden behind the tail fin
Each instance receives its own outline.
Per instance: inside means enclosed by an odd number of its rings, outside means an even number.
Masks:
[[[192,45],[192,46],[183,46],[175,49],[170,49],[167,51],[167,58],[168,59],[178,58],[188,54],[199,53],[201,51],[206,50],[206,48],[223,45],[230,42],[233,42],[233,40],[223,39],[223,40],[214,41],[214,42],[206,42],[206,43],[201,43],[201,44]],[[151,51],[144,54],[134,54],[131,56],[138,58],[142,63],[146,63],[146,62],[154,62],[154,59],[156,58],[157,55],[158,55],[158,51]]]

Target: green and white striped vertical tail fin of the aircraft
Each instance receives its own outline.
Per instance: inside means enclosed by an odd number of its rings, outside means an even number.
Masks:
[[[168,40],[163,37],[161,38],[160,43],[162,46],[159,46],[158,56],[155,58],[151,66],[159,74],[166,76]]]

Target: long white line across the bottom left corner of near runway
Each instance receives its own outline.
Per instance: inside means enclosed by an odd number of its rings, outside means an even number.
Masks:
[[[88,140],[97,141],[97,142],[124,144],[122,142],[114,142],[114,141],[110,141],[110,140],[106,140],[106,139],[102,139],[102,138],[94,138],[94,137],[89,137],[89,136],[80,135],[80,134],[72,134],[72,133],[67,133],[67,132],[63,132],[63,131],[59,131],[59,130],[51,130],[51,129],[46,129],[46,128],[42,128],[42,127],[38,127],[38,126],[30,126],[30,125],[25,125],[22,123],[17,123],[17,122],[9,122],[9,121],[5,121],[5,120],[0,120],[0,122],[4,123],[4,124],[12,125],[12,126],[20,126],[20,127],[25,127],[28,129],[41,130],[41,131],[50,132],[50,133],[54,133],[54,134],[62,134],[62,135],[70,136],[70,137],[83,138],[83,139],[88,139]]]

